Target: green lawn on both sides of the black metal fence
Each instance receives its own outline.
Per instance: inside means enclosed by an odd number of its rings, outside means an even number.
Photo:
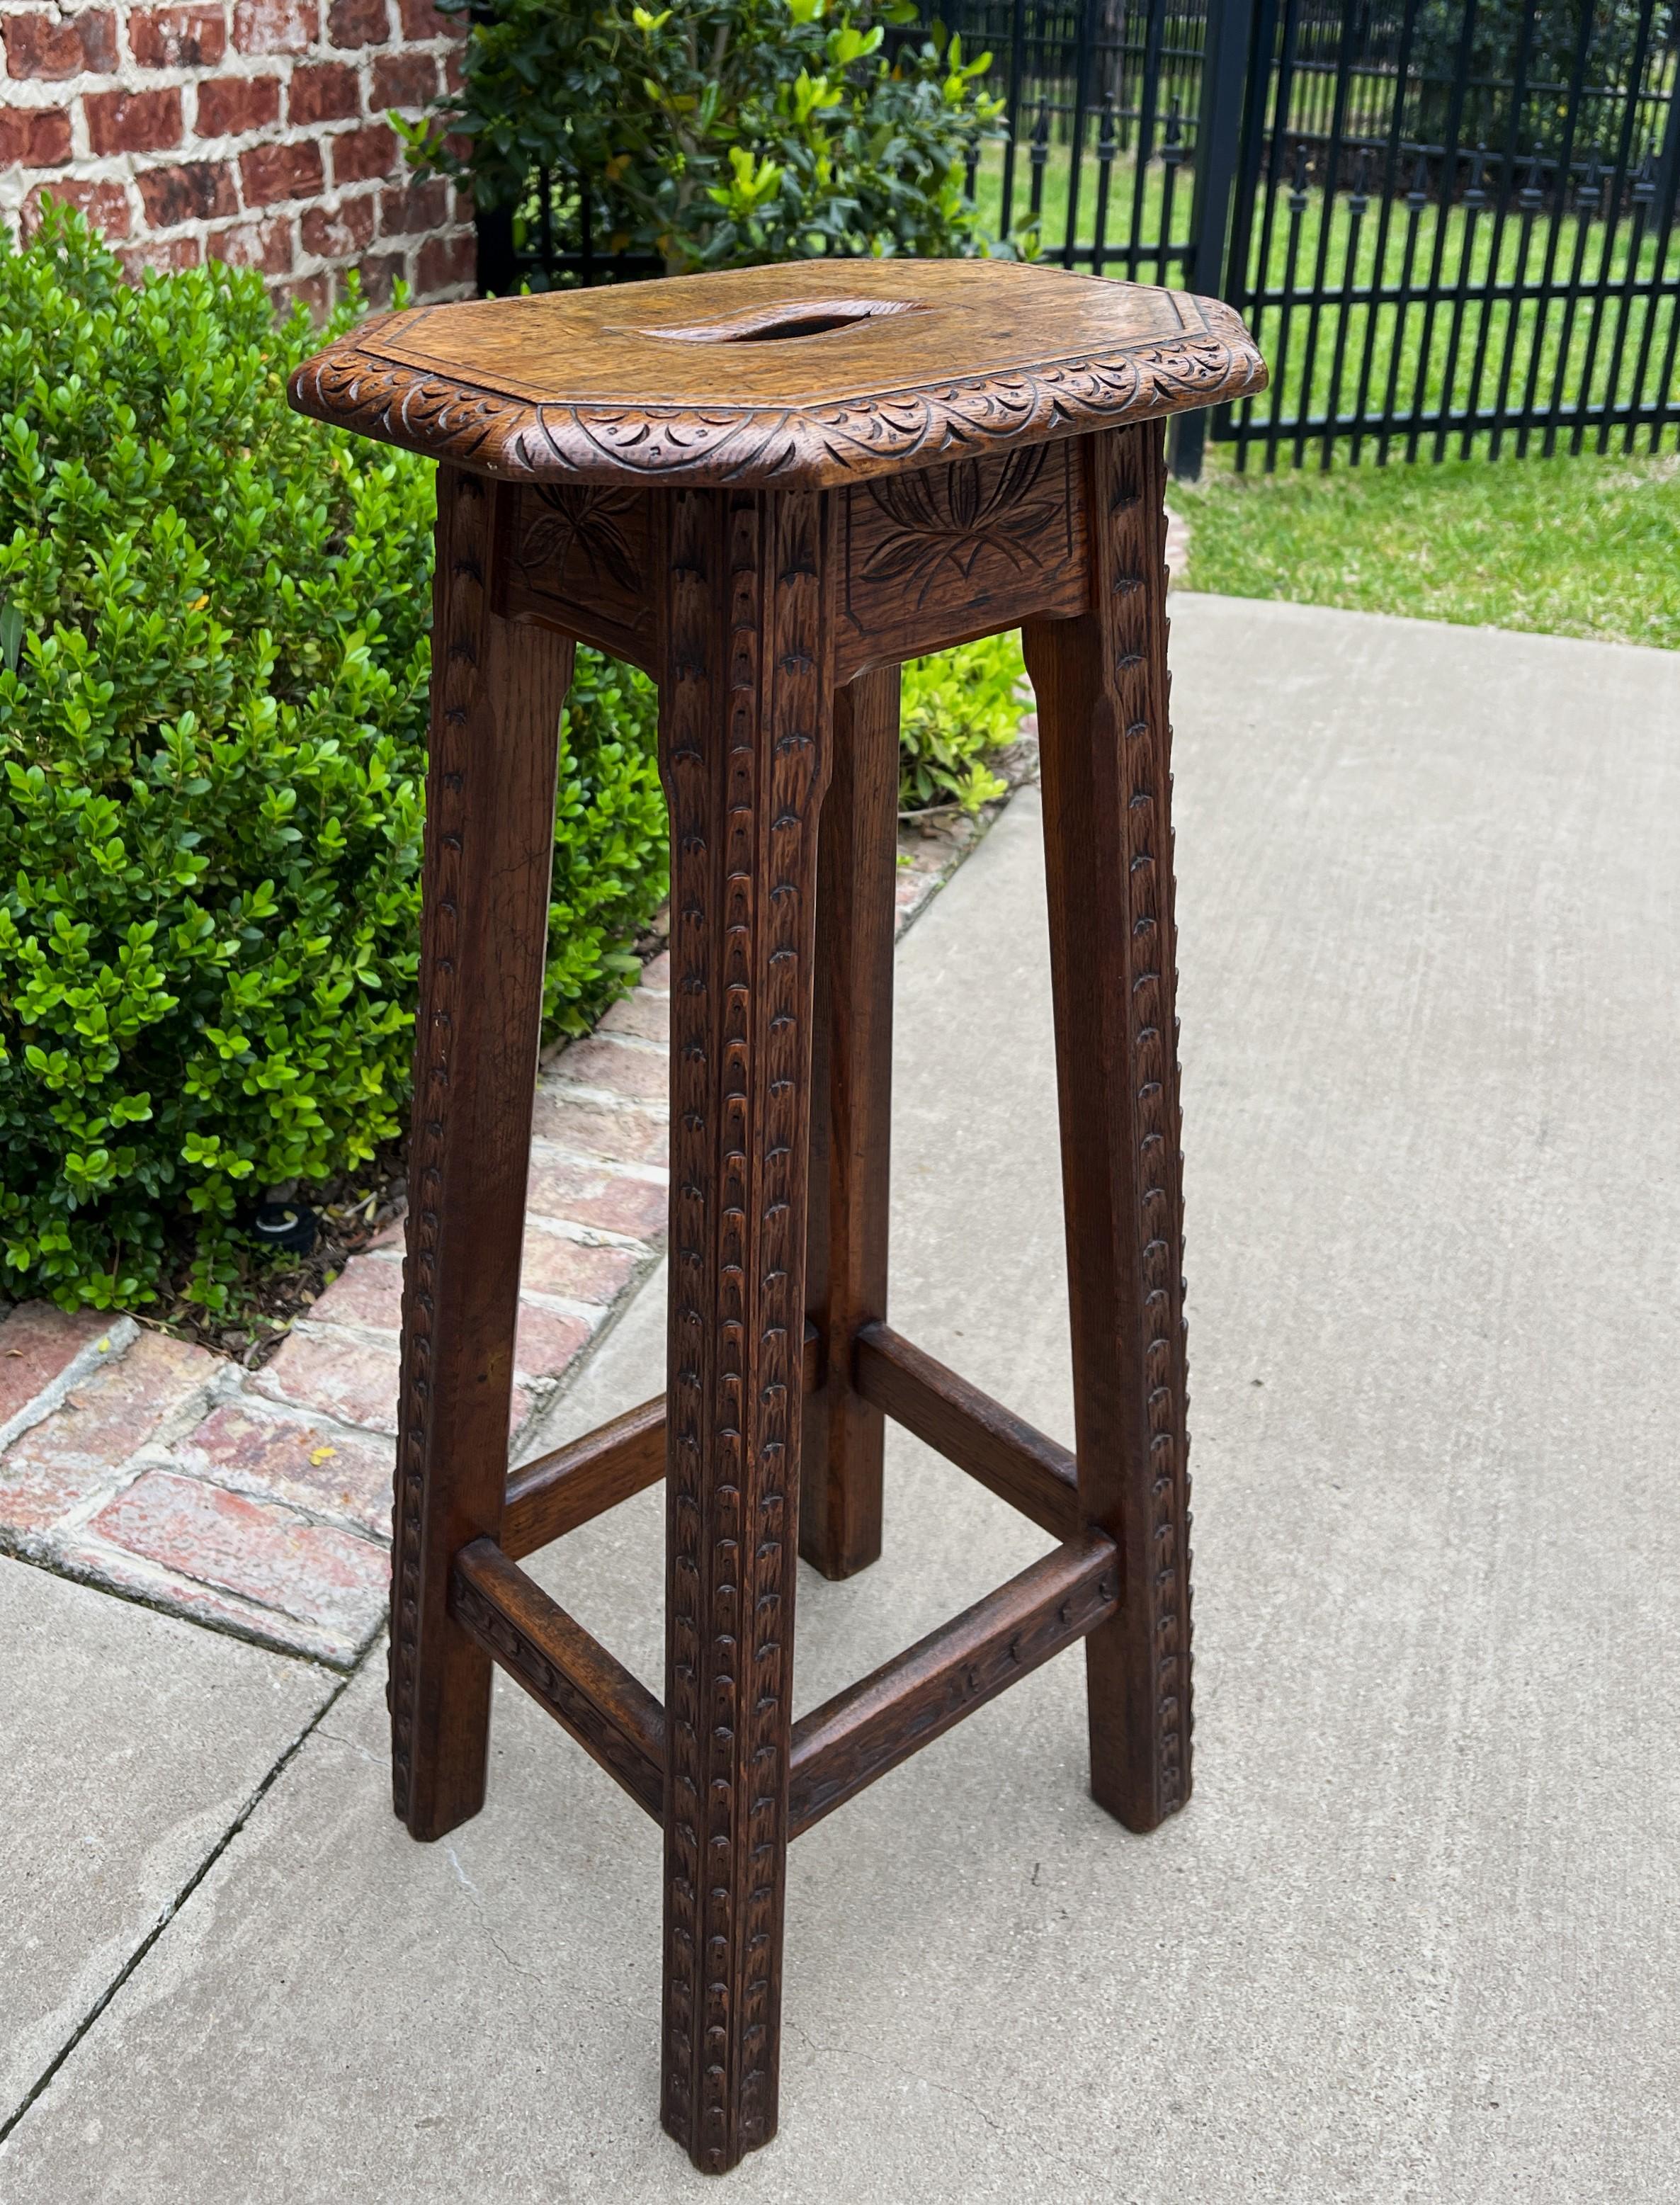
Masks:
[[[977,176],[983,218],[1001,212],[1003,148],[988,150]],[[1032,168],[1016,148],[1014,225],[1025,223]],[[1052,146],[1043,170],[1043,234],[1067,234],[1074,187],[1071,154]],[[1188,163],[1169,172],[1160,161],[1138,174],[1129,157],[1109,172],[1102,234],[1116,238],[1184,238],[1191,216]],[[1171,194],[1171,198],[1169,198]],[[1098,225],[1098,163],[1087,146],[1078,172],[1076,238],[1091,243]],[[1257,209],[1250,269],[1266,269],[1254,333],[1272,366],[1272,388],[1248,406],[1254,426],[1303,412],[1435,415],[1442,404],[1486,410],[1499,388],[1515,406],[1561,412],[1557,456],[1541,456],[1546,430],[1526,439],[1506,432],[1501,456],[1488,459],[1486,434],[1442,437],[1449,456],[1431,465],[1433,432],[1420,459],[1404,463],[1404,432],[1391,441],[1391,463],[1374,465],[1378,441],[1367,437],[1358,465],[1347,465],[1351,439],[1332,445],[1329,472],[1318,472],[1323,443],[1285,437],[1279,472],[1266,474],[1263,450],[1248,452],[1248,472],[1232,470],[1232,448],[1210,445],[1206,481],[1173,485],[1173,503],[1191,523],[1191,589],[1235,598],[1292,598],[1367,613],[1404,613],[1468,626],[1587,635],[1601,642],[1658,644],[1680,650],[1680,456],[1673,426],[1658,434],[1667,452],[1651,456],[1651,428],[1616,423],[1585,432],[1585,452],[1570,454],[1568,408],[1651,404],[1671,386],[1678,357],[1676,284],[1680,229],[1658,269],[1643,216],[1616,223],[1565,216],[1504,218],[1462,205],[1407,207],[1382,214],[1349,207],[1340,192],[1325,205],[1318,185],[1305,205],[1290,192],[1272,198],[1270,225]],[[1418,295],[1440,267],[1449,295],[1433,309]],[[1466,291],[1495,280],[1515,298],[1453,298],[1460,271]],[[1129,273],[1122,260],[1107,273]],[[1142,254],[1131,271],[1142,282],[1180,282],[1177,262]],[[1548,295],[1579,284],[1574,304]],[[1378,306],[1349,300],[1314,318],[1292,304],[1303,289],[1385,291]],[[1534,295],[1541,293],[1541,295]],[[1656,295],[1654,295],[1656,293]],[[1587,381],[1587,353],[1592,377]],[[1585,388],[1583,388],[1585,386]],[[1596,454],[1605,441],[1607,456]],[[1521,443],[1528,456],[1517,456]],[[1627,445],[1636,445],[1636,456]],[[1512,450],[1515,448],[1515,450]],[[1475,456],[1468,456],[1475,454]],[[1294,461],[1305,459],[1296,472]]]

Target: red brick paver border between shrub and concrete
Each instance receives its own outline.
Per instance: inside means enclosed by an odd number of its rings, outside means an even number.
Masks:
[[[1030,725],[1030,723],[1027,723]],[[1012,781],[1032,772],[1016,745]],[[902,845],[900,931],[988,820]],[[538,1080],[514,1442],[666,1228],[668,957]],[[130,1316],[0,1319],[0,1550],[335,1667],[386,1610],[403,1226],[247,1372]]]

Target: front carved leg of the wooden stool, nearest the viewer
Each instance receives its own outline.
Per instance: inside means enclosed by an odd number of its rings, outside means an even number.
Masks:
[[[798,1546],[820,496],[672,492],[664,2123],[708,2172],[776,2130]]]

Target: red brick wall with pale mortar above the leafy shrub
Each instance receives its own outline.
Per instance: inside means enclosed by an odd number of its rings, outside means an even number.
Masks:
[[[432,0],[0,0],[0,223],[75,201],[141,269],[260,267],[324,311],[346,269],[375,300],[472,287],[459,194],[417,185],[390,108],[452,66]]]

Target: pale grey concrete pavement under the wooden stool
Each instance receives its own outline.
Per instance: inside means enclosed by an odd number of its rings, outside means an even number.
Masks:
[[[1680,657],[1210,598],[1173,646],[1195,1799],[1091,1806],[1067,1656],[805,1837],[730,2194],[1667,2205]],[[893,1321],[1067,1438],[1036,836],[900,957]],[[657,1389],[659,1286],[531,1446]],[[895,1435],[796,1704],[1043,1544]],[[657,1493],[538,1574],[659,1685]],[[44,1583],[0,1563],[13,2104],[128,1976],[7,2205],[719,2194],[657,2128],[657,1832],[516,1689],[417,1848],[377,1656],[88,1652],[123,1612]]]

